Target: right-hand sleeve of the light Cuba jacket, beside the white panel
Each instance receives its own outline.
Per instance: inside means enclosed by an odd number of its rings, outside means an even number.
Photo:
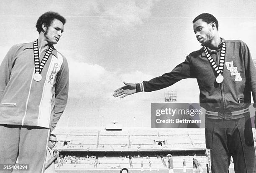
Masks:
[[[51,121],[51,131],[54,130],[56,124],[59,121],[64,109],[67,105],[69,90],[69,68],[67,59],[63,57],[63,64],[61,69],[57,74],[56,84],[55,84],[55,105],[54,105],[54,115]]]

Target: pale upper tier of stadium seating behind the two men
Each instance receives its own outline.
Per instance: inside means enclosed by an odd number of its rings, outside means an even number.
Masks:
[[[83,150],[205,149],[204,128],[57,127],[56,148]],[[64,142],[66,141],[66,145]]]

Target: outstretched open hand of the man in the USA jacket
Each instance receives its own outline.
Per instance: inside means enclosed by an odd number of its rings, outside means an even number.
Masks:
[[[125,86],[118,88],[117,90],[115,90],[113,96],[114,97],[119,97],[120,98],[124,98],[126,95],[131,95],[136,93],[136,84],[135,83],[126,83],[123,82],[125,84]]]

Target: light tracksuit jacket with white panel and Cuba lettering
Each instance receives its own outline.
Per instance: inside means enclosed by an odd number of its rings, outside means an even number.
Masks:
[[[54,49],[42,80],[34,73],[33,42],[10,48],[0,65],[0,124],[55,128],[67,104],[67,60]]]

